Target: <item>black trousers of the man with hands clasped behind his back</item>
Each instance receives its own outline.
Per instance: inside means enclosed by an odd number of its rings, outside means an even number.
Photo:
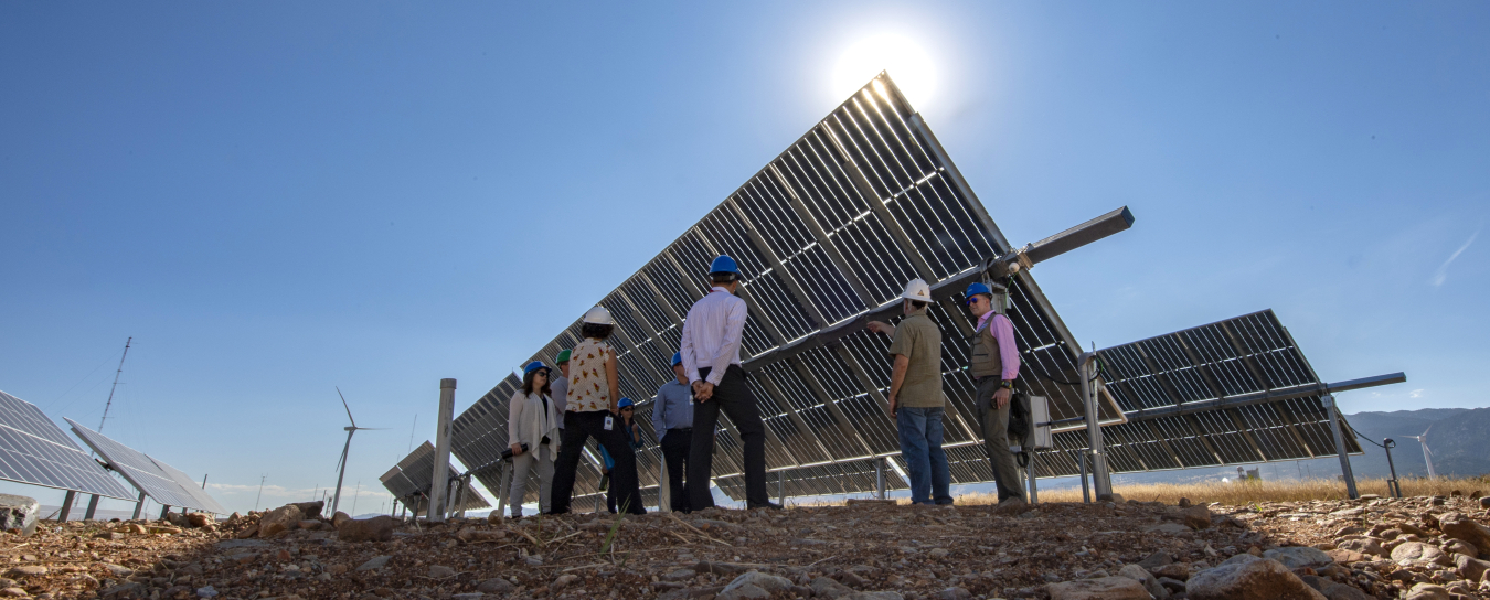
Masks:
[[[711,369],[699,369],[708,378]],[[745,384],[745,369],[730,365],[724,378],[714,386],[708,402],[693,400],[693,444],[688,447],[688,508],[702,511],[714,506],[709,478],[714,469],[714,426],[724,411],[745,442],[745,503],[760,506],[770,502],[766,493],[766,423],[755,408],[755,395]]]

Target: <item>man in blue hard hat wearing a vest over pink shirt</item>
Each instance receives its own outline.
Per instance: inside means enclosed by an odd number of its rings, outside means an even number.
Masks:
[[[983,432],[983,451],[988,453],[988,463],[994,469],[998,508],[1018,511],[1025,505],[1024,487],[1019,485],[1015,454],[1009,451],[1009,400],[1013,396],[1015,380],[1019,378],[1015,325],[995,307],[1004,296],[1001,286],[995,295],[992,287],[974,281],[967,286],[964,296],[967,310],[977,317],[967,374],[976,387],[973,406],[977,409],[977,424]]]

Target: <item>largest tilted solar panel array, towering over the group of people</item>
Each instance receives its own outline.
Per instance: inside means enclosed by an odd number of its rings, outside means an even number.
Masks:
[[[946,435],[970,442],[973,386],[960,336],[971,333],[971,323],[961,290],[989,258],[1009,250],[930,128],[881,74],[599,299],[617,320],[609,341],[621,393],[638,400],[648,444],[638,456],[642,485],[656,485],[660,460],[648,421],[651,399],[672,378],[668,360],[678,350],[682,316],[708,290],[703,280],[714,256],[727,253],[741,265],[739,295],[751,310],[741,356],[767,426],[767,467],[788,469],[898,451],[894,424],[884,417],[888,339],[863,331],[863,322],[870,313],[893,313],[915,277],[933,284],[933,319],[948,332]],[[1021,386],[1049,398],[1053,418],[1080,417],[1073,384],[1079,345],[1028,272],[1010,290],[1009,316],[1030,365]],[[575,320],[530,360],[553,365],[578,341]],[[502,412],[508,398],[504,390],[480,411]],[[1104,423],[1122,420],[1110,399],[1101,411]],[[733,424],[721,424],[714,472],[723,478],[741,473],[742,465]],[[472,456],[460,460],[495,462],[490,453],[505,445],[505,429],[490,436],[493,444],[472,444]],[[584,479],[577,494],[593,491]]]

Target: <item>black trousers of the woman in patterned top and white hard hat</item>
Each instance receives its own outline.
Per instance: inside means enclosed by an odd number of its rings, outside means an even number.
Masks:
[[[615,418],[609,432],[605,430],[605,417]],[[611,453],[611,459],[615,460],[615,466],[611,469],[611,488],[615,490],[615,497],[626,505],[626,512],[633,515],[647,512],[642,508],[642,493],[636,484],[636,453],[626,442],[626,432],[621,430],[624,426],[626,421],[609,411],[563,414],[563,439],[559,442],[559,459],[554,460],[553,500],[550,502],[553,514],[569,512],[574,476],[580,467],[580,453],[584,451],[584,442],[590,438],[605,447],[605,451]]]

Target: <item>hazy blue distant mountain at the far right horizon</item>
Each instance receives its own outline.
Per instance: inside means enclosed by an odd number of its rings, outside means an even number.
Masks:
[[[1490,408],[1421,408],[1417,411],[1357,412],[1345,415],[1365,456],[1351,457],[1350,466],[1360,476],[1390,476],[1386,453],[1375,444],[1392,438],[1392,463],[1398,476],[1427,476],[1423,445],[1408,436],[1427,432],[1438,475],[1472,476],[1490,473]]]

